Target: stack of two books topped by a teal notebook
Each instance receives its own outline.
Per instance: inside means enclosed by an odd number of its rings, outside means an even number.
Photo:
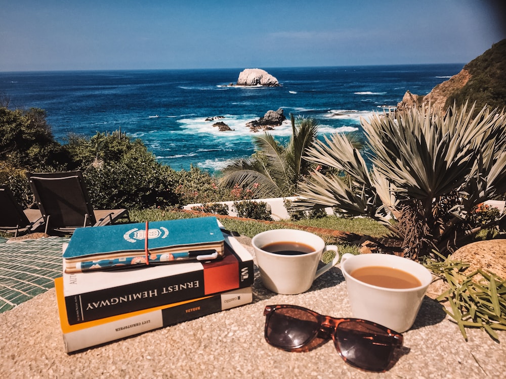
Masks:
[[[251,254],[215,217],[78,228],[55,279],[67,353],[248,304]]]

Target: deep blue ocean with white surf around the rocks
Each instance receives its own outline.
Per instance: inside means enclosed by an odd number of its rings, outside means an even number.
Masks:
[[[264,68],[279,87],[238,87],[242,69],[0,72],[10,108],[41,108],[55,138],[121,128],[141,138],[161,163],[209,172],[254,153],[248,121],[282,108],[270,131],[291,134],[289,114],[311,117],[320,135],[361,130],[360,118],[396,106],[406,90],[427,94],[463,64]],[[232,131],[206,118],[222,116]]]

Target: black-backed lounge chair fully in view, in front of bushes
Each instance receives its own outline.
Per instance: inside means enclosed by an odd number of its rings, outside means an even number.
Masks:
[[[94,210],[81,171],[26,173],[46,233],[73,233],[78,227],[113,224],[128,219],[126,209]]]

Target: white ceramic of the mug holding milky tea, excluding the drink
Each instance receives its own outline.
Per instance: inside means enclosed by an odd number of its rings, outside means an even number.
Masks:
[[[418,287],[393,289],[373,286],[350,274],[366,266],[396,268],[415,276]],[[427,287],[432,281],[431,272],[423,265],[407,258],[390,254],[344,254],[341,270],[346,279],[351,310],[356,318],[382,324],[398,333],[408,330],[414,323]]]

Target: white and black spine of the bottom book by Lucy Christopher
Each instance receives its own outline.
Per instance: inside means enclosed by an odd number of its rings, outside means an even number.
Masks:
[[[142,314],[120,320],[107,321],[105,319],[103,323],[95,323],[90,327],[76,328],[77,330],[64,333],[65,349],[67,353],[86,349],[251,302],[251,287],[247,287],[182,305],[168,306],[153,311],[146,310]]]

